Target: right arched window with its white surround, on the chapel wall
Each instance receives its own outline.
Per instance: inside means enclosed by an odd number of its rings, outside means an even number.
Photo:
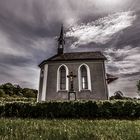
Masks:
[[[87,64],[82,64],[78,69],[79,91],[91,90],[90,69]]]

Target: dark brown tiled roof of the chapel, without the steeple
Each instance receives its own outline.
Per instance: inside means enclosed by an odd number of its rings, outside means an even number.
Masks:
[[[44,60],[39,66],[54,61],[76,61],[76,60],[107,60],[107,58],[101,52],[72,52],[56,54],[47,60]]]

